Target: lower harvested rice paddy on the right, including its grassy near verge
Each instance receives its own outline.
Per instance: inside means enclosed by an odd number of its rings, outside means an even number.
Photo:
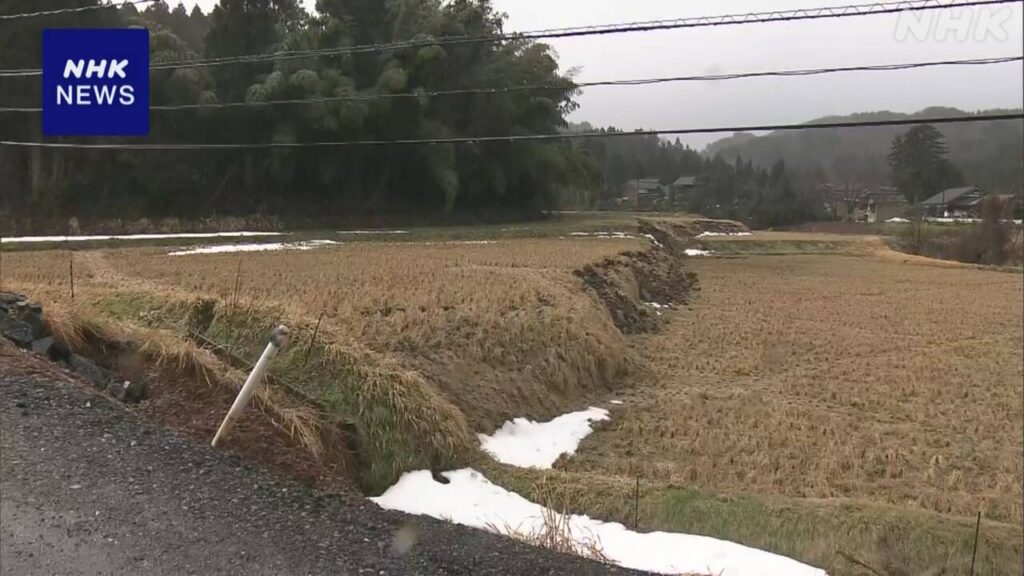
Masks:
[[[985,573],[1020,573],[1020,271],[862,243],[690,264],[699,300],[631,342],[649,371],[570,478],[639,478],[649,528],[830,573],[964,573],[981,512]]]

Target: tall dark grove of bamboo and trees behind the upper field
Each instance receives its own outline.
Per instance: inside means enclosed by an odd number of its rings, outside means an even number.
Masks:
[[[95,5],[57,0],[47,8]],[[7,0],[0,10],[37,10]],[[2,20],[0,68],[40,67],[44,28],[141,26],[151,61],[428,41],[504,32],[489,0],[221,0],[211,13],[162,1]],[[7,47],[11,49],[7,49]],[[551,48],[500,42],[153,70],[151,105],[261,102],[546,85],[543,91],[153,111],[153,142],[313,142],[555,134],[578,89]],[[3,106],[38,107],[38,77],[4,78]],[[0,114],[5,139],[39,140],[40,118]],[[76,140],[71,140],[76,141]],[[95,141],[95,140],[93,140]],[[101,141],[130,141],[106,138]],[[37,218],[212,214],[524,217],[599,172],[571,141],[142,152],[0,150],[3,210]]]

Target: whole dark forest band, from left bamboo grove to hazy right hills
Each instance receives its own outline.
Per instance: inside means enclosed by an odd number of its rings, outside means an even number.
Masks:
[[[0,13],[32,9],[38,9],[34,0],[6,0]],[[0,20],[0,69],[39,68],[44,28],[97,27],[150,30],[151,133],[143,140],[90,142],[303,145],[593,131],[609,136],[255,150],[0,147],[0,221],[250,214],[322,222],[360,216],[523,219],[556,209],[611,207],[630,179],[656,177],[669,184],[687,175],[699,177],[701,186],[686,209],[779,225],[822,217],[816,191],[824,182],[890,183],[886,159],[899,132],[736,134],[696,151],[678,139],[570,123],[580,93],[571,72],[560,72],[548,45],[508,34],[504,14],[489,0],[317,0],[314,13],[298,0],[220,0],[210,13],[160,0],[139,8],[125,4]],[[443,42],[500,35],[499,41]],[[338,50],[365,45],[388,47]],[[39,106],[38,76],[0,80],[0,108]],[[544,88],[505,90],[538,85]],[[452,90],[463,92],[435,94]],[[959,111],[921,115],[954,113]],[[992,192],[1021,189],[1019,122],[941,129],[965,181]],[[38,113],[0,111],[0,133],[9,140],[44,139]]]

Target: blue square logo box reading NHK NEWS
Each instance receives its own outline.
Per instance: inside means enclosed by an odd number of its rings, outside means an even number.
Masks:
[[[150,31],[43,31],[43,133],[150,133]]]

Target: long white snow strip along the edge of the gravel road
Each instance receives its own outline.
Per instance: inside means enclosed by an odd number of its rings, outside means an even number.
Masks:
[[[447,484],[429,470],[402,475],[383,495],[371,498],[381,507],[483,530],[506,529],[536,534],[543,530],[544,508],[495,486],[480,472],[465,468],[443,472]],[[582,544],[596,543],[613,563],[662,574],[722,576],[824,576],[824,571],[795,560],[733,542],[668,532],[640,534],[622,524],[570,516],[569,527]]]

